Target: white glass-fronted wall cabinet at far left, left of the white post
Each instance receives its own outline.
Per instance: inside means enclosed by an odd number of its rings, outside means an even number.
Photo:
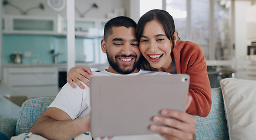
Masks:
[[[61,16],[4,15],[3,33],[8,34],[65,34],[66,22]]]

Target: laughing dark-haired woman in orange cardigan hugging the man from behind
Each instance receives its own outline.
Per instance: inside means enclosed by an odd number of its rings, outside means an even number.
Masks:
[[[206,117],[211,110],[211,89],[207,65],[200,46],[190,41],[178,40],[173,17],[165,10],[154,9],[145,13],[137,24],[137,39],[143,55],[140,68],[148,71],[164,71],[171,74],[190,75],[188,94],[193,97],[187,113]],[[75,67],[69,71],[68,82],[78,79],[89,84],[89,68]],[[82,85],[82,84],[81,84]],[[83,88],[81,86],[81,88]]]

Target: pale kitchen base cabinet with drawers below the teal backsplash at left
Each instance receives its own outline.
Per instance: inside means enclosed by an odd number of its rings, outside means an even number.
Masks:
[[[55,97],[59,92],[57,67],[5,67],[4,82],[29,98]]]

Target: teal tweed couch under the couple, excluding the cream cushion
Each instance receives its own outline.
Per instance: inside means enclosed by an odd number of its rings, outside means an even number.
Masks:
[[[206,118],[194,116],[198,121],[196,139],[229,139],[221,88],[211,89],[211,96],[213,104],[210,114]],[[53,97],[40,97],[25,101],[18,119],[0,118],[0,132],[6,135],[6,139],[28,132],[53,100]],[[1,140],[3,138],[0,137]]]

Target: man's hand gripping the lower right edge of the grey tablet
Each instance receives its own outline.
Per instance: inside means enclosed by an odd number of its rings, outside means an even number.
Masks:
[[[192,97],[188,96],[187,107],[190,105]],[[160,135],[167,139],[194,139],[196,132],[197,120],[193,116],[174,110],[161,110],[161,116],[154,116],[153,121],[159,122],[163,125],[150,125],[151,131],[159,131]]]

